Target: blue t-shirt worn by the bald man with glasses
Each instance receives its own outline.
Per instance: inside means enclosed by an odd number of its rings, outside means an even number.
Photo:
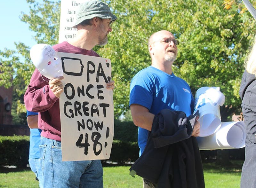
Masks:
[[[131,104],[144,106],[152,114],[158,114],[167,108],[183,111],[189,116],[194,109],[194,97],[183,79],[150,66],[132,78],[129,106]],[[148,130],[139,127],[140,155],[146,147],[147,138]]]

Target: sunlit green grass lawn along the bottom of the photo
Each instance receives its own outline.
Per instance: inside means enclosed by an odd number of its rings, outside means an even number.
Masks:
[[[243,161],[232,161],[232,165],[223,167],[215,163],[203,163],[206,188],[239,188]],[[141,188],[142,178],[129,175],[130,166],[103,167],[104,188]],[[38,187],[34,173],[30,168],[0,168],[0,187],[22,188]]]

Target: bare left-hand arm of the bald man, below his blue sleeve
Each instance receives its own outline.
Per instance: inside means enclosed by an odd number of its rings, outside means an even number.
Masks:
[[[155,115],[150,113],[146,107],[138,104],[131,104],[130,109],[134,125],[151,131]]]

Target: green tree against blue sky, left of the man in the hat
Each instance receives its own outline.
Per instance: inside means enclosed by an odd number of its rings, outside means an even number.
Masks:
[[[29,24],[29,29],[35,32],[37,43],[53,45],[57,43],[60,22],[60,1],[38,3],[27,0],[30,13],[21,12],[20,20]],[[24,124],[26,112],[23,95],[34,72],[30,61],[30,47],[24,43],[15,43],[16,50],[0,51],[0,85],[6,88],[14,86],[12,116],[15,124]]]

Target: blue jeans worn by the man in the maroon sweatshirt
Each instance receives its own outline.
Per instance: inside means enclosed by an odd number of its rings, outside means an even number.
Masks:
[[[61,142],[45,137],[41,137],[39,148],[44,187],[103,188],[100,160],[62,161]]]

